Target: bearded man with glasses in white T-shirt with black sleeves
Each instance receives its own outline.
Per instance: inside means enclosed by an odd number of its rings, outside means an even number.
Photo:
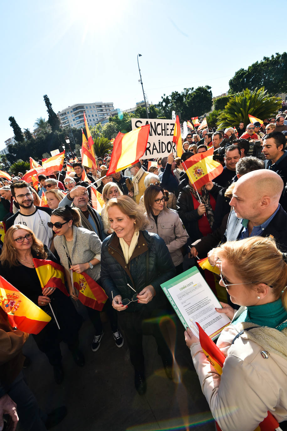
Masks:
[[[19,204],[20,210],[6,220],[6,229],[12,225],[24,225],[32,229],[35,236],[48,248],[51,246],[53,231],[48,228],[52,210],[43,206],[35,206],[33,194],[25,181],[11,184],[13,199]]]

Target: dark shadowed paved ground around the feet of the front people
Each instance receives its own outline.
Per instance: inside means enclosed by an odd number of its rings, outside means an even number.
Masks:
[[[214,431],[208,404],[200,389],[190,352],[184,342],[184,328],[177,320],[176,359],[178,382],[168,380],[156,352],[153,337],[144,337],[147,393],[137,394],[127,345],[115,346],[109,323],[102,315],[105,334],[100,349],[92,352],[93,327],[86,318],[80,331],[86,365],[79,368],[62,344],[65,378],[61,385],[53,379],[53,369],[32,337],[24,353],[32,360],[25,377],[41,408],[49,412],[66,405],[68,415],[54,431]]]

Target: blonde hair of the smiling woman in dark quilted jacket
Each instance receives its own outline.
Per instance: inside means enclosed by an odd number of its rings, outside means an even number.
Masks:
[[[147,225],[147,217],[143,214],[143,209],[140,205],[134,202],[129,196],[113,197],[106,203],[106,211],[112,206],[117,206],[125,215],[135,220],[135,227],[139,231],[143,231]]]

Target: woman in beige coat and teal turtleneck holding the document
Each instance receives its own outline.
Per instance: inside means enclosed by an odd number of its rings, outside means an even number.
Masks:
[[[286,421],[287,265],[283,255],[269,237],[227,242],[214,253],[221,269],[219,284],[241,306],[234,310],[221,303],[223,308],[217,309],[232,319],[216,343],[225,356],[221,375],[206,359],[199,339],[189,329],[184,333],[212,415],[223,431],[253,431],[268,411],[278,422]]]

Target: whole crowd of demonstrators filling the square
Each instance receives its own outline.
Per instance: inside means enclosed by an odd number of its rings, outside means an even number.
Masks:
[[[168,320],[158,324],[173,310],[160,285],[208,256],[220,269],[219,284],[227,291],[228,301],[218,312],[231,319],[217,340],[226,357],[222,375],[188,328],[185,340],[212,415],[223,431],[252,431],[270,411],[287,429],[285,118],[286,112],[280,112],[263,124],[193,130],[183,139],[181,157],[171,153],[141,159],[109,176],[111,154],[106,154],[97,158],[98,169],[83,166],[80,159],[69,175],[68,163],[62,171],[38,175],[37,189],[22,180],[21,172],[12,181],[3,180],[0,213],[6,233],[0,275],[48,314],[49,304],[57,310],[61,330],[52,318],[33,335],[53,366],[57,384],[65,372],[60,340],[76,365],[85,364],[79,348],[82,317],[75,308],[80,297],[71,270],[87,274],[104,291],[102,311],[111,336],[116,347],[127,344],[134,385],[143,395],[144,334],[155,338],[166,376],[173,379]],[[182,163],[211,147],[223,172],[196,189]],[[82,180],[84,170],[88,182]],[[93,207],[90,186],[102,195],[101,213]],[[47,207],[40,206],[43,193]],[[57,288],[42,290],[34,258],[62,265],[69,297]],[[94,327],[91,349],[96,352],[104,335],[100,310],[87,306],[87,312]],[[53,412],[39,413],[21,374],[27,334],[13,330],[2,309],[0,314],[1,343],[8,339],[14,344],[12,353],[3,353],[0,365],[0,406],[10,406],[6,410],[16,424],[13,402],[17,403],[25,429],[46,430],[54,424]],[[11,367],[15,358],[18,365]],[[20,393],[30,397],[29,408],[23,406]],[[57,420],[65,415],[62,408]]]

